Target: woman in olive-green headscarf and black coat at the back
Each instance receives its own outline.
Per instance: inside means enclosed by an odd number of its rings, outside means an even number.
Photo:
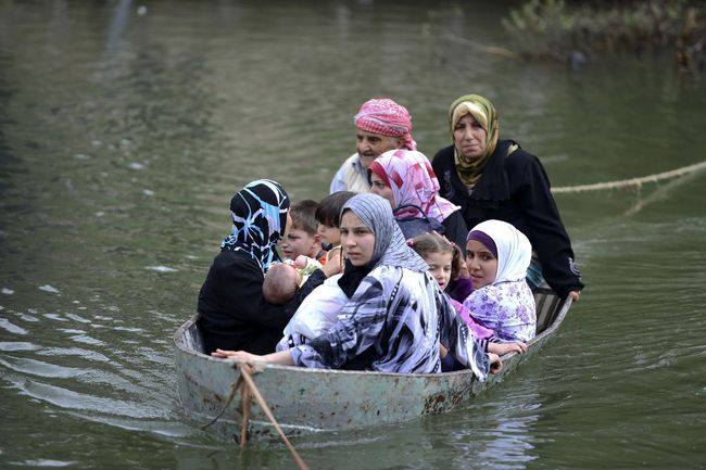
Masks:
[[[537,252],[530,271],[541,272],[562,298],[578,300],[583,282],[539,158],[499,138],[495,107],[478,94],[451,103],[449,130],[453,144],[431,164],[439,193],[461,206],[468,227],[488,219],[514,225]],[[543,280],[530,276],[528,282],[534,288]]]

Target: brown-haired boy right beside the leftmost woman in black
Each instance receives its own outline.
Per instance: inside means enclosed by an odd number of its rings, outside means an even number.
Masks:
[[[311,199],[292,204],[289,214],[292,217],[292,227],[281,241],[282,253],[288,259],[297,259],[304,255],[326,263],[326,251],[322,249],[322,237],[316,232],[318,224],[314,213],[318,203]]]

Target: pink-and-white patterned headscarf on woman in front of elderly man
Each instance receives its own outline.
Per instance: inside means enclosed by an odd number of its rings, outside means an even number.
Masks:
[[[390,186],[398,207],[416,205],[439,223],[461,208],[439,195],[439,180],[421,152],[390,150],[378,156],[369,169]],[[395,217],[418,216],[416,213],[416,209],[396,212]]]

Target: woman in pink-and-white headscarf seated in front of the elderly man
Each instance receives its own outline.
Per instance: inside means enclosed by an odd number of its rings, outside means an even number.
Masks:
[[[439,195],[439,180],[424,153],[391,150],[375,160],[368,169],[370,192],[390,202],[398,220],[425,216],[433,219],[443,227],[444,237],[465,254],[468,229],[458,212],[461,207]]]

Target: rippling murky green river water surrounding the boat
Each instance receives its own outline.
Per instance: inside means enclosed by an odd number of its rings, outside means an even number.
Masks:
[[[261,4],[262,3],[262,4]],[[172,335],[260,177],[320,199],[371,97],[419,150],[479,92],[555,187],[706,157],[664,54],[522,63],[489,2],[0,1],[0,467],[294,468],[182,416]],[[477,402],[294,440],[312,468],[704,468],[706,174],[557,194],[587,290]]]

